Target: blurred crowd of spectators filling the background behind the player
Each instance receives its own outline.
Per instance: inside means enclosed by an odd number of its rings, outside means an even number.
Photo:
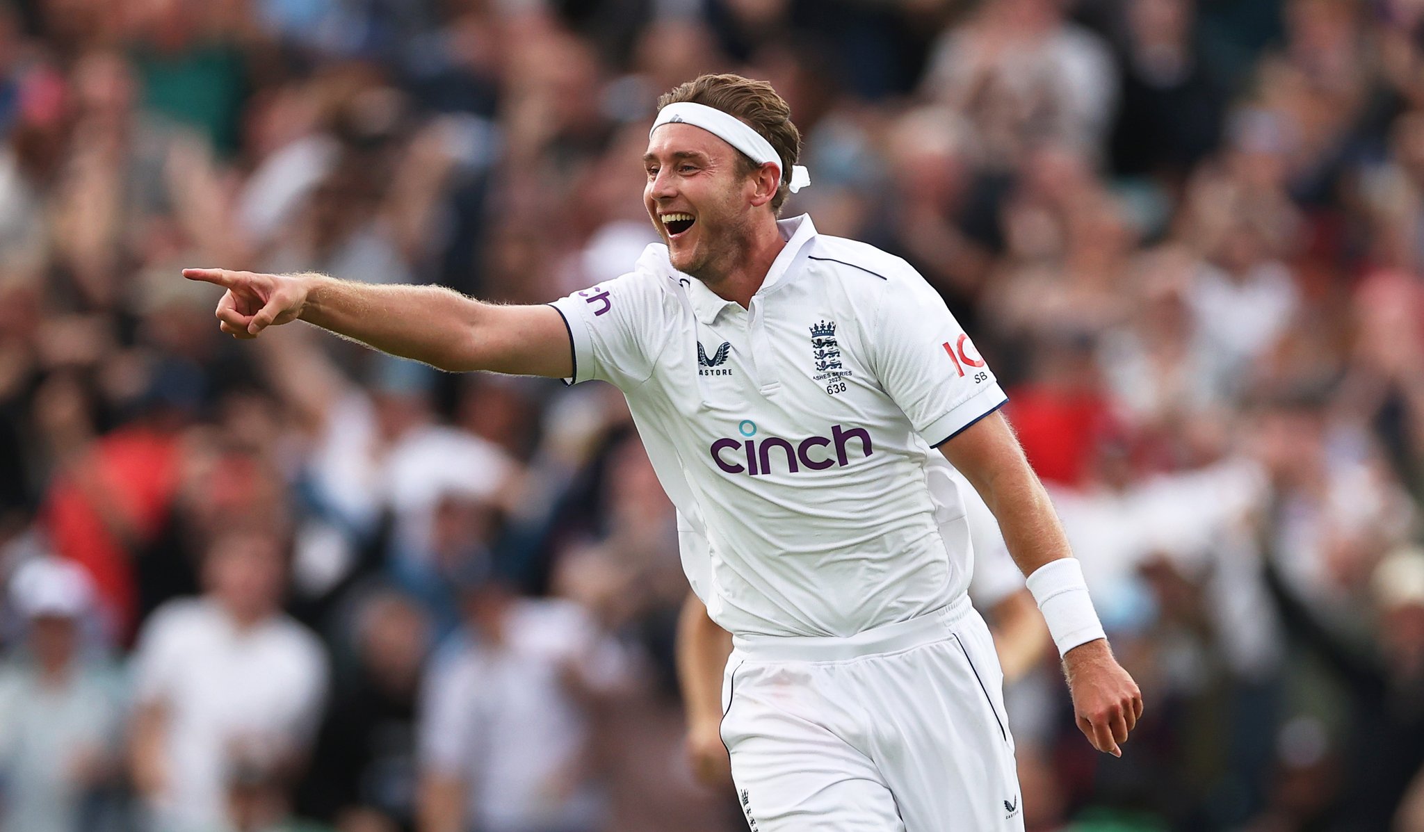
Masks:
[[[745,828],[615,390],[178,274],[608,279],[719,70],[974,333],[1141,682],[1122,759],[1010,685],[1028,829],[1424,829],[1417,0],[10,0],[4,832]]]

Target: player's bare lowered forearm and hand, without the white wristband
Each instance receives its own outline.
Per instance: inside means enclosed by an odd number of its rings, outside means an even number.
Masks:
[[[1040,568],[1072,557],[1068,537],[1038,476],[1028,466],[1018,439],[1000,413],[980,419],[940,446],[984,497],[1004,533],[1014,563],[1030,576]],[[1075,566],[1075,564],[1074,564]],[[1035,591],[1035,596],[1038,591]],[[1047,598],[1040,597],[1040,608]],[[1054,621],[1049,618],[1049,630]],[[1101,630],[1098,631],[1101,634]],[[1054,633],[1055,638],[1058,633]],[[1064,671],[1072,692],[1078,729],[1094,748],[1122,756],[1119,744],[1142,715],[1142,692],[1112,657],[1105,638],[1095,638],[1064,652]]]

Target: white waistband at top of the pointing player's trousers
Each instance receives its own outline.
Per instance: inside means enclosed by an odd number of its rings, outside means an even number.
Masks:
[[[961,594],[943,610],[909,621],[871,627],[854,635],[732,635],[732,650],[750,660],[779,661],[843,661],[879,652],[897,652],[948,638],[954,627],[973,610],[970,597]]]

